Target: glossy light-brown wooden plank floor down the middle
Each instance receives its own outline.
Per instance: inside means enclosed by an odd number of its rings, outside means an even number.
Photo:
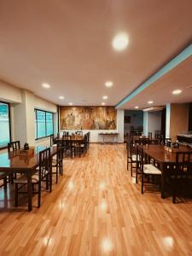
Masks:
[[[15,210],[1,189],[0,255],[192,255],[192,201],[141,195],[126,171],[125,145],[91,144],[64,167],[32,212],[23,201]]]

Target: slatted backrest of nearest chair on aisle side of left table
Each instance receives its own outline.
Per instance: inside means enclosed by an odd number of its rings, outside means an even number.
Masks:
[[[45,148],[39,152],[39,178],[42,179],[51,168],[50,148]]]

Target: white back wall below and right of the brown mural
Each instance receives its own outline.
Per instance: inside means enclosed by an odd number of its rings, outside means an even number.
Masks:
[[[65,130],[67,131],[67,130]],[[68,130],[70,133],[76,130]],[[102,136],[99,133],[102,132],[118,132],[118,143],[124,143],[124,110],[117,110],[117,130],[83,130],[83,133],[90,131],[90,143],[102,143]],[[62,130],[61,130],[62,133]],[[106,138],[106,141],[112,141],[111,137]]]

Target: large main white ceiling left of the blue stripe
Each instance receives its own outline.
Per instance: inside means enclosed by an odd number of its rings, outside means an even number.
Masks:
[[[60,105],[116,105],[191,38],[191,0],[0,0],[0,78]]]

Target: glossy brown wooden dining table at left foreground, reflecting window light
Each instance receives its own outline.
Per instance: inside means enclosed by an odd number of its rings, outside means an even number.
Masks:
[[[28,211],[32,211],[32,175],[37,172],[36,168],[39,165],[39,152],[44,150],[45,146],[35,147],[32,154],[20,154],[20,150],[15,150],[11,153],[0,154],[0,172],[22,173],[27,178],[27,197]],[[50,155],[53,157],[56,154],[56,145],[50,147]],[[50,172],[52,172],[50,168]],[[51,177],[51,175],[50,175]],[[52,182],[50,182],[51,185]],[[51,188],[50,188],[51,190]]]

